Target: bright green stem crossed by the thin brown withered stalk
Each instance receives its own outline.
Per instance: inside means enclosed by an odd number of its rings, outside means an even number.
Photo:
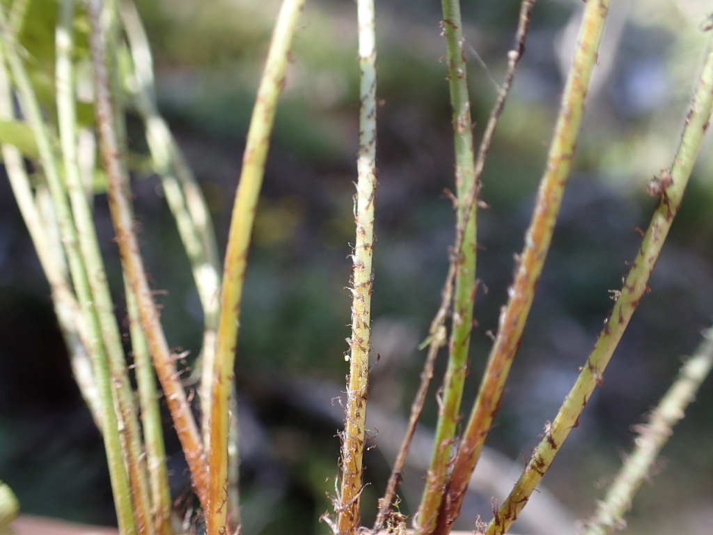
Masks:
[[[448,83],[453,111],[453,141],[456,152],[456,191],[458,194],[458,228],[462,245],[454,253],[456,282],[452,312],[451,339],[448,344],[448,367],[443,379],[443,397],[438,408],[434,452],[426,486],[421,498],[414,528],[419,535],[430,534],[436,527],[438,508],[448,475],[448,460],[459,419],[463,384],[468,370],[468,348],[473,329],[473,302],[476,294],[476,216],[477,203],[468,202],[477,190],[473,150],[471,103],[468,98],[463,23],[458,0],[442,0],[443,33],[448,50]]]

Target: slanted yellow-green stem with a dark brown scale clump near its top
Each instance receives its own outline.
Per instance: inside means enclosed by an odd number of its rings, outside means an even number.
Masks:
[[[590,3],[592,0],[590,0]],[[588,4],[589,5],[589,4]],[[709,46],[701,77],[676,156],[670,170],[662,170],[650,190],[660,193],[660,201],[644,236],[639,253],[631,264],[622,289],[604,330],[600,332],[594,350],[585,362],[582,372],[565,399],[552,424],[545,427],[543,439],[533,452],[525,472],[520,476],[510,496],[488,525],[488,535],[507,531],[520,510],[525,506],[535,487],[547,472],[570,431],[578,426],[580,413],[586,406],[597,384],[603,380],[609,363],[634,310],[649,291],[647,282],[659,256],[671,224],[683,198],[703,134],[708,127],[713,106],[713,47]]]

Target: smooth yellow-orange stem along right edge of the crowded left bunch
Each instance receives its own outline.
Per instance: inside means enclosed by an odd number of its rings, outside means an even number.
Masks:
[[[245,153],[242,157],[240,182],[235,194],[235,204],[230,220],[223,285],[220,296],[220,322],[218,324],[215,367],[212,371],[210,394],[210,439],[208,442],[209,486],[205,516],[209,534],[227,533],[231,521],[227,517],[228,480],[227,452],[230,419],[230,398],[235,365],[237,333],[240,326],[242,287],[247,270],[247,253],[255,221],[255,210],[260,195],[265,161],[270,146],[270,133],[275,121],[277,98],[284,83],[289,49],[297,28],[304,0],[284,0],[272,33],[265,72],[257,90],[247,133]]]

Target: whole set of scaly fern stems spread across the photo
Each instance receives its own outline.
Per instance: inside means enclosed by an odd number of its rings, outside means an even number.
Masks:
[[[121,535],[171,535],[171,503],[165,465],[158,383],[188,462],[193,491],[205,513],[207,533],[234,534],[240,529],[237,507],[237,414],[233,374],[240,326],[243,285],[250,237],[260,197],[277,101],[284,85],[294,33],[304,0],[284,0],[277,16],[265,71],[257,90],[247,132],[242,170],[235,195],[227,250],[220,260],[210,215],[200,188],[178,145],[158,112],[148,39],[135,6],[129,1],[74,0],[58,3],[55,32],[56,101],[46,106],[31,76],[21,43],[29,20],[29,1],[0,6],[0,121],[30,136],[4,138],[2,157],[13,193],[46,272],[58,321],[72,355],[81,391],[106,443],[108,467]],[[374,531],[394,529],[391,509],[396,498],[416,423],[434,375],[434,362],[447,345],[448,365],[438,397],[438,423],[421,502],[414,515],[418,535],[447,535],[461,511],[473,470],[503,401],[508,373],[523,335],[535,288],[543,270],[568,183],[583,118],[590,76],[607,18],[610,0],[589,0],[583,9],[573,63],[560,103],[547,163],[535,209],[517,256],[513,284],[503,307],[493,347],[483,372],[478,397],[458,436],[461,399],[468,372],[473,330],[476,279],[477,211],[481,174],[498,119],[525,49],[535,0],[522,0],[515,46],[508,53],[505,80],[481,144],[473,141],[468,96],[466,36],[460,2],[442,0],[442,34],[446,38],[448,86],[455,151],[455,242],[441,295],[441,306],[424,342],[428,353],[421,383],[411,407],[409,424],[396,457],[386,492],[379,501]],[[86,11],[86,13],[85,13]],[[88,19],[86,42],[78,39],[78,14]],[[376,200],[376,14],[374,0],[357,1],[359,29],[360,112],[358,180],[354,195],[356,236],[352,246],[352,334],[348,339],[349,375],[341,433],[340,485],[334,498],[336,518],[329,519],[339,535],[361,529],[363,456],[366,440],[366,399],[371,352],[371,294],[374,285],[374,208]],[[86,57],[82,47],[88,49]],[[131,58],[128,79],[119,78],[118,57]],[[91,65],[93,126],[79,126],[78,62]],[[14,99],[19,104],[15,109]],[[202,421],[197,422],[163,332],[160,314],[135,235],[129,170],[125,165],[124,115],[133,108],[142,118],[153,170],[160,177],[178,232],[188,254],[204,312],[198,397]],[[580,376],[560,411],[545,426],[540,444],[511,494],[494,513],[488,535],[504,534],[530,499],[571,429],[578,425],[637,305],[649,291],[647,282],[668,230],[682,202],[693,163],[713,108],[713,50],[702,74],[670,168],[662,170],[650,190],[660,196],[642,245],[616,302]],[[6,136],[7,137],[7,136]],[[132,352],[125,355],[114,313],[106,268],[93,223],[92,183],[98,163],[83,155],[101,156],[108,207],[116,233]],[[36,162],[29,175],[24,158]],[[41,170],[41,172],[40,172]],[[56,230],[53,230],[56,229]],[[217,299],[220,295],[220,299]],[[450,329],[450,331],[448,331]],[[710,332],[679,374],[670,392],[641,427],[637,449],[625,462],[605,501],[588,524],[588,535],[610,533],[621,523],[633,494],[655,462],[670,430],[682,417],[713,366]],[[130,374],[130,364],[135,372]],[[132,384],[138,387],[138,397]],[[458,444],[457,447],[455,444]],[[0,500],[1,501],[1,500]],[[0,504],[0,514],[2,514]],[[402,522],[399,516],[399,522]],[[0,523],[3,519],[0,519]]]

